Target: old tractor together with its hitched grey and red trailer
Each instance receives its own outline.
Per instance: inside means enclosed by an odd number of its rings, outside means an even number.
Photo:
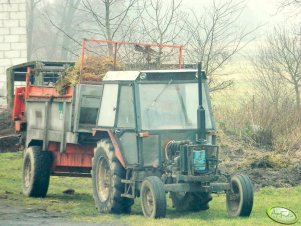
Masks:
[[[101,213],[165,217],[166,193],[178,210],[206,210],[225,192],[230,216],[249,216],[246,175],[218,169],[219,147],[204,71],[109,71],[99,84],[58,93],[70,62],[29,62],[8,69],[13,119],[23,137],[23,193],[45,197],[51,175],[91,176]],[[14,103],[12,104],[12,100]],[[224,179],[223,179],[224,178]],[[221,180],[223,179],[223,180]],[[223,181],[223,182],[221,182]]]

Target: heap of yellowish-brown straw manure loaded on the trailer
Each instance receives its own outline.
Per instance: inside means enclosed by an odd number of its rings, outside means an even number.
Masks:
[[[124,65],[118,61],[115,63],[111,56],[89,56],[85,59],[84,66],[81,69],[81,59],[73,67],[68,68],[57,81],[55,88],[59,93],[64,93],[68,86],[74,86],[80,82],[98,82],[102,81],[108,71],[120,71]]]

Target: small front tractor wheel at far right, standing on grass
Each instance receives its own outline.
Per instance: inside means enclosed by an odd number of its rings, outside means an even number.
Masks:
[[[250,216],[253,207],[253,188],[248,176],[243,174],[231,178],[231,190],[226,193],[227,211],[230,217]]]

